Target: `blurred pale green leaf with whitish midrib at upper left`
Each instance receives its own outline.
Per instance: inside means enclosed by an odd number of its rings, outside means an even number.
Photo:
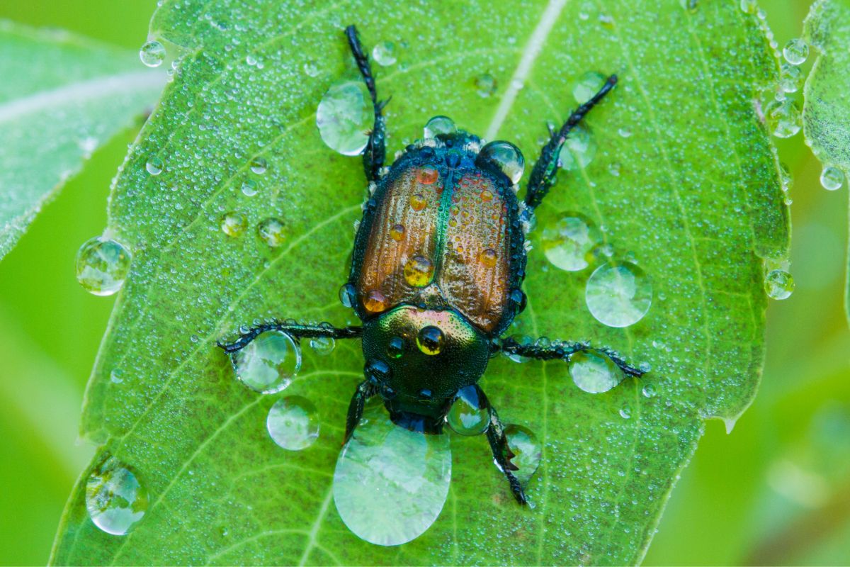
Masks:
[[[151,105],[162,73],[65,31],[0,20],[0,258],[94,150]]]

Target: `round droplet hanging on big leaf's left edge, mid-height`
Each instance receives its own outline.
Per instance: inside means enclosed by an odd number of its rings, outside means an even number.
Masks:
[[[95,236],[77,252],[77,281],[94,295],[112,295],[124,285],[130,260],[130,251],[122,244]]]

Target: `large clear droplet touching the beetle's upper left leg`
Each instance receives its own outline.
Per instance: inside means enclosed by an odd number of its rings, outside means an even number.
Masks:
[[[329,88],[316,110],[316,126],[331,150],[357,156],[369,141],[372,125],[371,99],[360,81]]]

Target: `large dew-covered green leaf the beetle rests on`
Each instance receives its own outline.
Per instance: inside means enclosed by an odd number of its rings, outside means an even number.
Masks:
[[[618,73],[619,86],[587,121],[592,162],[560,174],[538,224],[585,213],[618,255],[632,252],[655,293],[638,324],[604,326],[584,303],[591,269],[554,268],[541,230],[532,233],[530,305],[516,332],[592,339],[652,371],[592,395],[561,362],[492,360],[481,382],[490,400],[503,421],[544,444],[528,489],[536,506],[513,502],[483,438],[455,437],[443,512],[400,547],[360,541],[331,497],[348,400],[361,380],[360,344],[342,342],[327,357],[304,350],[285,394],[314,401],[321,434],[298,452],[265,431],[280,396],[237,383],[215,347],[256,318],[354,322],[337,289],[365,181],[360,160],[328,149],[315,128],[326,89],[356,77],[342,32],[350,23],[367,46],[397,46],[398,62],[376,68],[382,97],[393,97],[390,156],[420,137],[430,116],[445,114],[488,139],[514,141],[532,162],[547,121],[575,107],[578,77]],[[139,472],[150,506],[129,535],[107,535],[88,519],[83,473],[52,562],[638,563],[703,420],[731,427],[762,368],[762,258],[786,253],[789,225],[754,111],[778,79],[757,18],[731,1],[688,10],[613,0],[309,8],[165,0],[152,31],[185,57],[111,199],[110,228],[132,248],[133,267],[82,426]],[[497,82],[487,98],[474,84],[483,73]],[[151,156],[165,163],[156,177],[144,170]],[[263,175],[250,170],[255,156],[269,164]],[[248,179],[255,196],[240,190]],[[228,211],[249,221],[240,238],[219,230]],[[256,234],[270,216],[286,225],[282,247]],[[115,369],[122,383],[111,382]],[[655,396],[642,394],[648,384]]]

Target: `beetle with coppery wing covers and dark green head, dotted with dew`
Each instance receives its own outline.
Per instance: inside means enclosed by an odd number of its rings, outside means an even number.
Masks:
[[[504,427],[479,379],[499,353],[537,360],[564,360],[588,343],[519,343],[501,339],[525,307],[522,291],[525,232],[536,207],[555,184],[558,154],[570,131],[615,87],[608,78],[598,93],[570,114],[532,168],[525,196],[516,193],[524,169],[519,149],[489,144],[460,130],[419,140],[384,167],[386,120],[371,65],[354,26],[348,45],[371,96],[374,124],[362,152],[370,196],[354,238],[348,281],[340,290],[362,326],[337,328],[275,322],[254,326],[235,342],[233,355],[260,333],[360,338],[365,379],[348,406],[345,441],[354,433],[366,400],[380,395],[394,423],[423,434],[440,434],[451,404],[462,398],[486,411],[485,431],[496,464],[521,503],[527,498],[511,462]],[[446,119],[447,120],[447,119]],[[604,352],[626,376],[643,371],[611,349]]]

